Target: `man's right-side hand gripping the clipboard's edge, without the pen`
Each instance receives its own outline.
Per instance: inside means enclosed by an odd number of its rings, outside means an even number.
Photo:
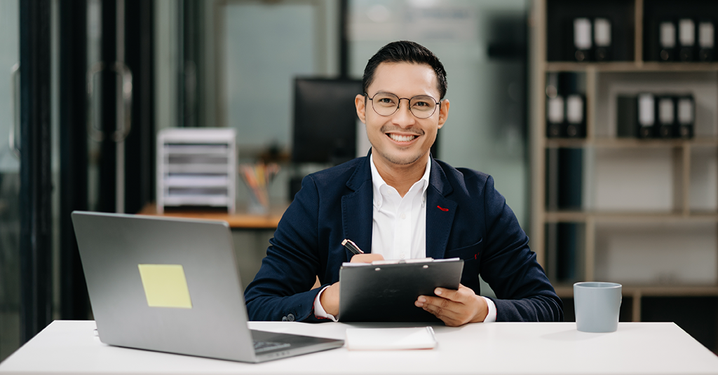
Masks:
[[[434,293],[437,297],[419,295],[414,305],[434,314],[449,327],[482,322],[489,312],[486,300],[464,285],[460,284],[459,290],[436,288]]]

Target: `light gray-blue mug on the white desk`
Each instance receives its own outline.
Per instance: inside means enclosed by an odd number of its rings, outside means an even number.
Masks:
[[[576,328],[582,332],[614,332],[618,328],[621,285],[617,283],[575,283]]]

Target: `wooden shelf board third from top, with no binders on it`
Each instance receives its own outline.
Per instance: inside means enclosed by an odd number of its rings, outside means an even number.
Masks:
[[[545,222],[595,222],[620,223],[671,223],[671,222],[718,222],[718,212],[581,212],[549,211],[544,213]]]

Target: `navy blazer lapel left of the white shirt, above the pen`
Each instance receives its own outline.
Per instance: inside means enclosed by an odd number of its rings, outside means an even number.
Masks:
[[[373,227],[373,187],[369,158],[364,158],[347,181],[352,193],[342,196],[342,231],[344,238],[351,239],[365,253],[371,252]],[[352,253],[347,252],[347,262]]]

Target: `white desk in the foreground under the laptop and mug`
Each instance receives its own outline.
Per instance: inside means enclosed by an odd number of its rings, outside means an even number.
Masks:
[[[330,338],[350,327],[250,326]],[[620,323],[615,333],[582,333],[575,323],[439,326],[434,350],[338,348],[264,364],[107,346],[94,328],[94,321],[55,321],[0,364],[0,374],[718,374],[718,357],[673,323]]]

